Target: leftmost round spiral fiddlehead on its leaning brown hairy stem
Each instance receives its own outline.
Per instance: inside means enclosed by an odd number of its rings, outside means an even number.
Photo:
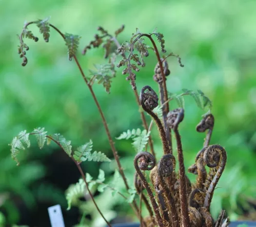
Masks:
[[[159,227],[164,227],[162,220],[161,220],[161,216],[159,213],[159,208],[158,208],[158,204],[156,202],[156,199],[153,195],[153,192],[145,178],[145,176],[143,175],[143,173],[141,172],[141,170],[152,170],[156,165],[156,159],[153,155],[151,155],[148,152],[139,152],[135,158],[134,158],[134,167],[135,170],[143,184],[143,187],[146,189],[149,198],[150,198],[150,202],[152,204],[153,210],[156,214],[156,219],[158,222],[158,226]]]

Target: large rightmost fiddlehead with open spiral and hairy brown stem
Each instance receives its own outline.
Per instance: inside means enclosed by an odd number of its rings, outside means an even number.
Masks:
[[[217,168],[217,172],[213,177],[204,199],[204,207],[209,210],[215,187],[226,165],[227,154],[222,146],[215,144],[207,147],[203,159],[208,167]]]

